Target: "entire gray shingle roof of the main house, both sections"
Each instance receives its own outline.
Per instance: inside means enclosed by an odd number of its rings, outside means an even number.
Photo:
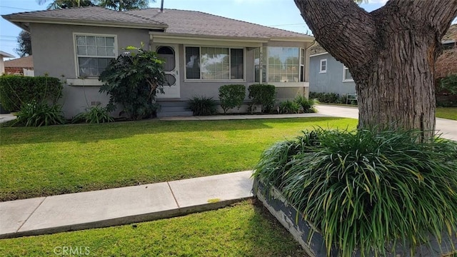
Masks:
[[[141,9],[112,11],[97,6],[32,11],[3,15],[4,19],[27,29],[29,23],[81,24],[144,29],[166,29],[166,34],[225,36],[253,39],[288,38],[312,41],[312,36],[283,29],[228,19],[200,11]]]

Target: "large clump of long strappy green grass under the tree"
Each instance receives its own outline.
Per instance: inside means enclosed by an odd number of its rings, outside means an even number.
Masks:
[[[304,131],[261,156],[253,176],[276,186],[322,233],[327,255],[411,255],[457,229],[457,143],[419,131]]]

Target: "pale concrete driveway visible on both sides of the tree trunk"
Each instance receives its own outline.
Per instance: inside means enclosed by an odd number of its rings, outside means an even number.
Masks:
[[[357,107],[316,105],[318,114],[358,119]],[[457,121],[436,118],[436,133],[441,137],[457,141]]]

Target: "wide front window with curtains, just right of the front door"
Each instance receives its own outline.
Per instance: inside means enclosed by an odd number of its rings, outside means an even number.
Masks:
[[[243,49],[186,46],[186,79],[244,78]]]

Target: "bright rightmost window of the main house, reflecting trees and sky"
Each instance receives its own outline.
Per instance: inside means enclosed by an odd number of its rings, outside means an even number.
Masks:
[[[298,82],[298,47],[268,47],[268,82]]]

